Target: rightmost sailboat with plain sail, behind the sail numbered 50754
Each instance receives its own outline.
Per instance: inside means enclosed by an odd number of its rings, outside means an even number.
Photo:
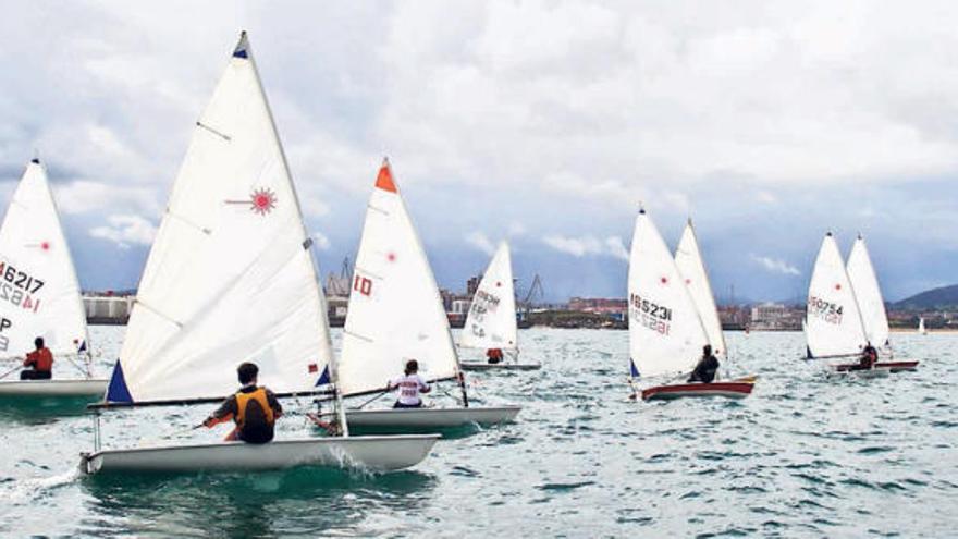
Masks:
[[[875,368],[889,369],[892,372],[914,370],[919,362],[901,362],[891,358],[891,330],[888,329],[888,317],[885,313],[885,301],[882,298],[879,279],[875,275],[868,247],[861,234],[855,240],[851,253],[848,255],[846,269],[851,287],[855,290],[858,308],[861,311],[865,338],[880,353]],[[886,356],[886,358],[883,360],[881,355]]]

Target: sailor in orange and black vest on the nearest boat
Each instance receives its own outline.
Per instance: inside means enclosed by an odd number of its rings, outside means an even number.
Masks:
[[[283,415],[283,407],[272,391],[256,384],[259,367],[244,363],[236,369],[240,383],[236,394],[230,396],[216,412],[202,421],[207,428],[233,420],[236,428],[224,441],[242,440],[246,443],[267,443],[273,439],[277,419]]]

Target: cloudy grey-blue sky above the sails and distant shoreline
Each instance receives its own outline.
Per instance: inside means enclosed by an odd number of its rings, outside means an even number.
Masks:
[[[861,231],[886,296],[958,282],[958,3],[4,2],[0,203],[45,160],[86,289],[136,285],[240,29],[323,272],[383,155],[441,285],[624,296],[635,213],[720,296],[802,296]]]

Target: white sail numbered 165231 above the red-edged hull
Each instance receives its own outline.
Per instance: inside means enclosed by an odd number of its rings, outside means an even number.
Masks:
[[[675,259],[644,210],[632,234],[628,293],[631,376],[691,370],[709,338]]]

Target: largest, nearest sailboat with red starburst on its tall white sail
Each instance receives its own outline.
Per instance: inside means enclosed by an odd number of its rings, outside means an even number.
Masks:
[[[100,411],[219,402],[243,362],[278,396],[335,388],[311,240],[246,33],[193,132]],[[99,417],[99,416],[97,416]],[[417,464],[437,436],[99,448],[87,474]]]

